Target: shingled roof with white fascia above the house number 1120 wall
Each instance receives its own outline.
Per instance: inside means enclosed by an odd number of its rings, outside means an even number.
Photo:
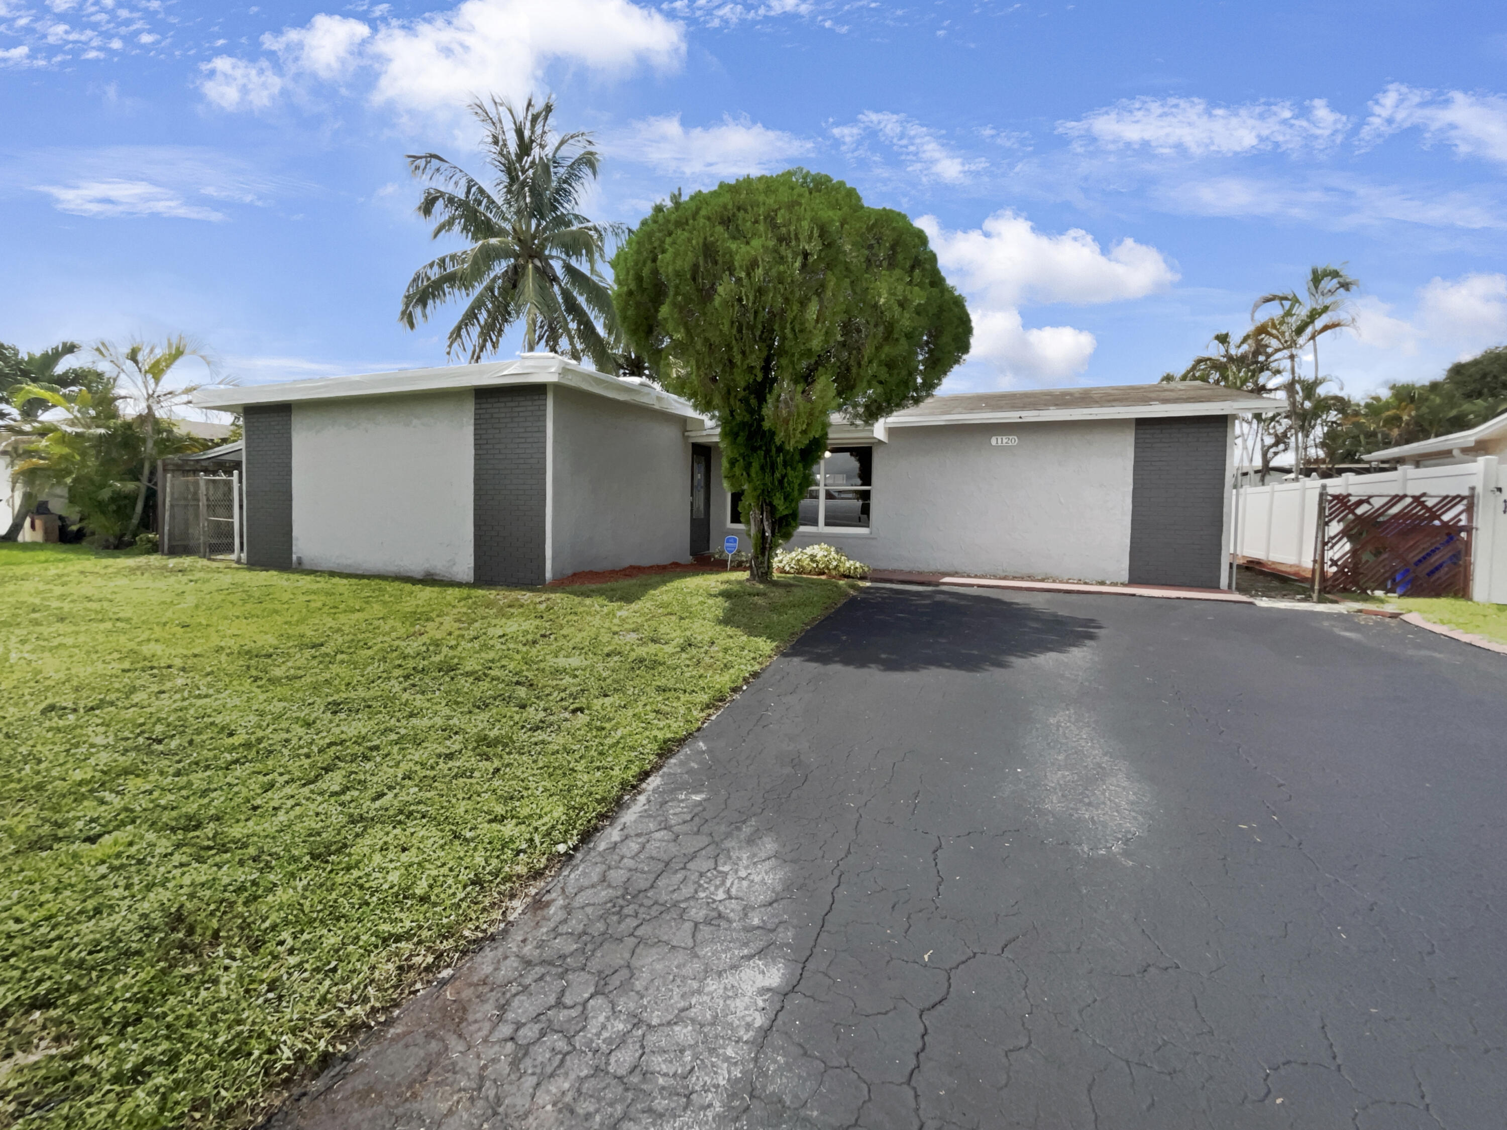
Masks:
[[[1230,416],[1282,411],[1269,396],[1203,381],[1109,384],[1097,389],[1029,389],[933,396],[889,417],[891,428],[1007,420],[1111,420],[1138,416]]]

